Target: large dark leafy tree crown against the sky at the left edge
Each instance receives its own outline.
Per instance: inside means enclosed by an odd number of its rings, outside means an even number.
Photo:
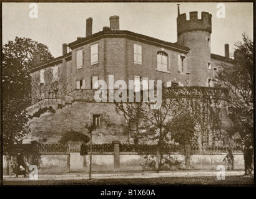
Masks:
[[[2,100],[31,98],[31,74],[35,63],[36,50],[39,62],[51,60],[52,55],[46,45],[29,38],[16,37],[2,47]]]

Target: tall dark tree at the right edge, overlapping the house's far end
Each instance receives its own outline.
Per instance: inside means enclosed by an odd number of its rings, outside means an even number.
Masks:
[[[242,42],[235,44],[232,64],[221,65],[217,86],[226,90],[230,126],[226,136],[244,148],[245,175],[252,175],[254,151],[254,44],[242,34]]]

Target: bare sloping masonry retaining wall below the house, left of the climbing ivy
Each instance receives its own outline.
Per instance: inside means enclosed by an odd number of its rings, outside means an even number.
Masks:
[[[95,144],[111,143],[119,139],[126,142],[128,139],[128,124],[117,114],[116,106],[112,103],[93,103],[75,101],[73,104],[56,113],[44,113],[40,118],[29,120],[31,132],[23,143],[31,140],[46,138],[48,143],[57,143],[62,134],[69,130],[86,132],[86,124],[91,124],[93,114],[100,114],[100,127],[93,133],[92,141]]]

